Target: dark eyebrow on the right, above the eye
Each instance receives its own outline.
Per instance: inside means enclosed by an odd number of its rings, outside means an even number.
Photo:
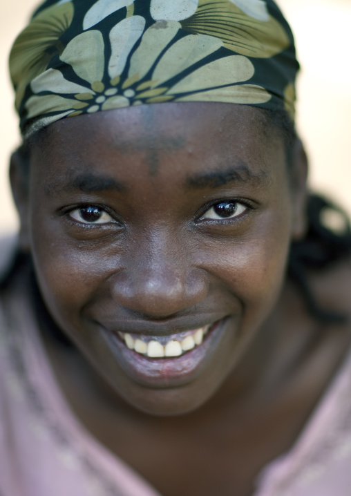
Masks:
[[[191,189],[218,188],[231,182],[251,182],[255,186],[267,184],[269,178],[265,171],[258,173],[240,161],[237,166],[230,167],[225,171],[214,171],[208,173],[198,173],[187,178],[186,186]]]

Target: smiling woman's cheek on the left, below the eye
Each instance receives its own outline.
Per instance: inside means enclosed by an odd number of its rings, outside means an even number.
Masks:
[[[32,198],[37,200],[32,201],[30,245],[41,294],[56,320],[58,315],[72,318],[93,298],[111,257],[106,246],[70,238],[64,221],[49,207],[44,209],[44,198],[35,192]]]

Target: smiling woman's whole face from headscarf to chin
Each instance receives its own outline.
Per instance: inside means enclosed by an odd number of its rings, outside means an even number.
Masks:
[[[46,305],[140,410],[204,403],[276,303],[302,207],[261,121],[139,106],[59,121],[32,151],[22,224]]]

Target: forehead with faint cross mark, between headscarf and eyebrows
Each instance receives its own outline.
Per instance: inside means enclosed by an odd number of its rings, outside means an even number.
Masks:
[[[261,111],[235,104],[152,104],[82,115],[52,124],[32,164],[41,179],[73,181],[99,169],[133,179],[203,171],[272,174],[284,146]],[[277,155],[278,153],[278,160]],[[274,160],[272,160],[274,155]],[[135,176],[134,176],[135,177]]]

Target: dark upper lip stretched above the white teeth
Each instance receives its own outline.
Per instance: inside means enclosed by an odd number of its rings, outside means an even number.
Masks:
[[[212,325],[225,318],[225,315],[203,315],[197,318],[177,318],[176,321],[164,319],[160,321],[119,320],[98,321],[97,323],[110,332],[125,332],[129,334],[144,334],[146,336],[171,336],[179,332],[200,329]]]

